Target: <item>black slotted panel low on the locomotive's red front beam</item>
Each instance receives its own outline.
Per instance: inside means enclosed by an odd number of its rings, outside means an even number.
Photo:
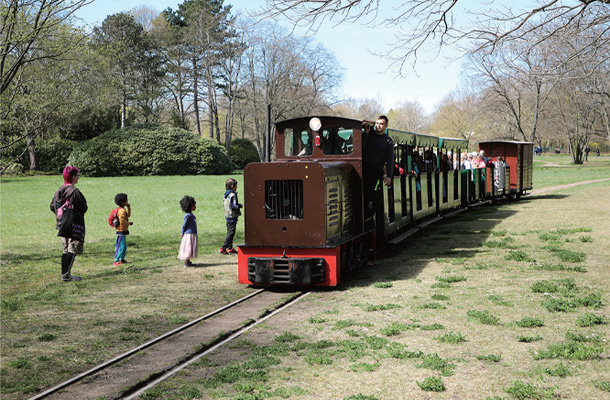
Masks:
[[[248,280],[256,284],[311,285],[324,282],[324,258],[248,258]]]

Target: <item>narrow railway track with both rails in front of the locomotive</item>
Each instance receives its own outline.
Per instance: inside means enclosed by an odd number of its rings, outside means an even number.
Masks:
[[[134,399],[310,291],[260,289],[53,386],[38,399]]]

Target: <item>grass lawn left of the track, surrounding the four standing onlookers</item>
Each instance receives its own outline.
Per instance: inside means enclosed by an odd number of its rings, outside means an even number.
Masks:
[[[237,285],[236,256],[217,253],[226,235],[227,177],[83,176],[87,234],[72,270],[83,280],[69,284],[60,281],[61,243],[49,210],[61,177],[3,178],[2,397],[23,398],[250,291]],[[241,188],[242,176],[231,177]],[[134,225],[131,264],[114,267],[116,236],[107,221],[119,192],[129,196]],[[177,259],[179,200],[187,194],[197,201],[200,242],[199,268],[188,270]],[[240,221],[235,243],[243,237]]]

